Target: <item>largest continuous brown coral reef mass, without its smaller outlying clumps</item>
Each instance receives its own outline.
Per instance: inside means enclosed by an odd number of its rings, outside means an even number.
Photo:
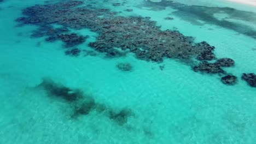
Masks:
[[[18,21],[33,25],[57,24],[74,29],[89,28],[99,33],[97,40],[90,43],[97,51],[109,53],[119,47],[129,49],[137,58],[162,61],[163,57],[190,59],[200,55],[210,45],[206,42],[193,44],[193,38],[178,31],[161,31],[155,21],[146,17],[115,16],[109,9],[94,9],[75,6],[81,1],[35,5],[23,11],[25,17]],[[103,16],[103,17],[101,17]]]

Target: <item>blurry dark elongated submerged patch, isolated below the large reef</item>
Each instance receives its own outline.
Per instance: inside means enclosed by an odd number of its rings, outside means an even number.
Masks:
[[[63,100],[73,107],[72,118],[89,115],[91,111],[97,111],[104,113],[104,115],[119,125],[123,125],[133,115],[130,109],[113,110],[104,104],[97,103],[93,97],[84,94],[80,89],[68,88],[50,79],[44,79],[38,87],[43,88],[49,97]]]

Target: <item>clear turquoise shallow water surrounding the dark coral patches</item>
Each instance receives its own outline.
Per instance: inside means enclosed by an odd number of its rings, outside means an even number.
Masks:
[[[207,41],[216,47],[216,57],[234,59],[234,67],[223,69],[238,77],[236,85],[224,85],[218,75],[195,73],[189,64],[172,58],[144,61],[132,52],[114,58],[102,52],[67,56],[62,41],[31,38],[37,26],[18,26],[15,21],[22,9],[45,4],[43,0],[4,0],[0,2],[0,143],[255,143],[256,88],[241,80],[242,73],[256,73],[255,35],[243,33],[256,31],[255,8],[226,1],[174,1],[206,9],[234,8],[236,15],[207,12],[216,20],[241,26],[230,28],[188,15],[187,9],[167,2],[126,1],[118,7],[113,4],[124,1],[84,2],[121,11],[118,15],[125,17],[149,16],[162,31],[177,29],[194,37],[196,43]],[[245,11],[249,15],[242,16]],[[168,16],[173,20],[165,20]],[[96,41],[97,32],[86,28],[71,31],[89,35],[78,49],[93,50],[88,44]],[[132,70],[121,71],[118,63],[130,63]],[[38,86],[45,77],[80,89],[96,104],[105,105],[105,112],[91,110],[71,118],[76,103],[48,97]],[[123,109],[131,111],[124,123],[108,115],[108,111]]]

